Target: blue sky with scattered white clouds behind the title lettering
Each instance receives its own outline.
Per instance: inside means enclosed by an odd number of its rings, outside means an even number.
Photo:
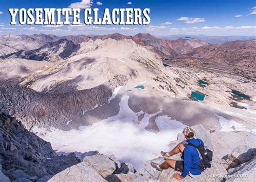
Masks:
[[[59,36],[68,34],[109,34],[119,32],[134,35],[139,32],[157,36],[170,34],[205,34],[208,36],[256,36],[255,0],[116,0],[116,1],[42,1],[0,0],[0,34],[51,33]],[[10,25],[9,8],[68,8],[72,3],[79,8],[150,8],[149,25],[84,25],[42,26]],[[74,4],[73,4],[74,5]],[[82,14],[83,15],[83,14]],[[81,16],[82,17],[82,16]],[[83,22],[83,21],[82,21]]]

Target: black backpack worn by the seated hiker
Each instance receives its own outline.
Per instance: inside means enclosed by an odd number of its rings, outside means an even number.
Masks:
[[[213,156],[213,152],[210,149],[205,149],[204,145],[201,144],[200,140],[199,141],[199,145],[194,145],[192,143],[188,143],[187,145],[193,146],[194,148],[196,148],[200,155],[201,155],[201,165],[199,165],[196,169],[201,169],[202,171],[204,171],[206,168],[211,168],[211,161],[212,161],[212,156]]]

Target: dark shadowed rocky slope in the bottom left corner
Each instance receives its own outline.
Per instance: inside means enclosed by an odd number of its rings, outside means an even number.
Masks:
[[[0,176],[4,181],[46,181],[44,177],[53,176],[79,161],[75,153],[58,156],[49,142],[0,111]]]

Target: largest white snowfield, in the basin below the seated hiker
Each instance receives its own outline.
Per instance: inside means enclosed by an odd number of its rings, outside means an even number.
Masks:
[[[167,116],[158,116],[156,123],[160,131],[156,134],[145,130],[149,118],[155,114],[145,114],[138,121],[138,114],[128,106],[129,95],[123,95],[119,103],[119,113],[92,125],[80,127],[78,130],[62,131],[51,128],[34,128],[57,152],[89,152],[99,151],[105,155],[114,154],[118,159],[131,163],[136,169],[146,160],[159,156],[159,151],[169,150],[168,145],[175,141],[177,134],[186,125],[171,120]],[[160,111],[159,111],[160,112]],[[158,112],[158,113],[159,113]]]

